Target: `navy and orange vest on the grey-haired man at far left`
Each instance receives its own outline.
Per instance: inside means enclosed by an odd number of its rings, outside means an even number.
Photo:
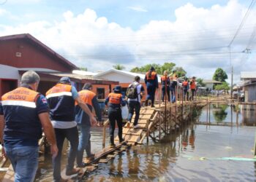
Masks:
[[[39,93],[18,87],[1,97],[4,111],[4,144],[10,146],[38,146],[42,125],[37,114]]]

